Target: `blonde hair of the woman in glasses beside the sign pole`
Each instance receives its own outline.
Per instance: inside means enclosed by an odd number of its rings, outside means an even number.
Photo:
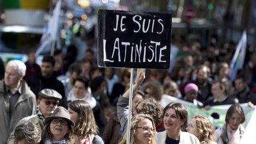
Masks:
[[[135,143],[135,136],[136,136],[136,128],[137,128],[137,124],[142,121],[148,119],[152,122],[153,125],[153,136],[152,136],[152,140],[151,140],[151,144],[155,144],[155,135],[156,135],[156,128],[155,128],[155,124],[153,122],[153,119],[151,116],[149,116],[148,114],[136,114],[136,116],[132,117],[131,120],[131,126],[130,126],[130,144]],[[121,138],[119,144],[126,144],[126,139],[127,139],[127,130],[124,133],[123,137]]]

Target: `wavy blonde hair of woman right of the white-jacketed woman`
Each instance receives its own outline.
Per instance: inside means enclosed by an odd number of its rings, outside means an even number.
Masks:
[[[194,116],[194,119],[196,120],[197,132],[199,132],[199,137],[197,137],[199,141],[214,141],[214,127],[210,120],[201,115]]]

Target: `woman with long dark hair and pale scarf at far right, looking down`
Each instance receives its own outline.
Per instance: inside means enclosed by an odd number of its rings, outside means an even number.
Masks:
[[[245,114],[239,104],[233,104],[226,113],[226,123],[215,130],[215,141],[217,143],[239,143],[244,135],[245,129],[242,123]]]

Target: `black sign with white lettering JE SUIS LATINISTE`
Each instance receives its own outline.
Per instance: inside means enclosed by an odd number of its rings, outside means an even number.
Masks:
[[[168,69],[171,14],[100,10],[98,66]]]

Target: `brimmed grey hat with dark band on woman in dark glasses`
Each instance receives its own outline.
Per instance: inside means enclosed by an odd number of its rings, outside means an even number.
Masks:
[[[64,107],[57,107],[55,111],[53,111],[53,114],[49,117],[45,118],[45,123],[48,123],[50,120],[55,119],[55,118],[63,118],[71,124],[71,126],[75,126],[75,123],[70,119],[70,115],[68,110]]]

